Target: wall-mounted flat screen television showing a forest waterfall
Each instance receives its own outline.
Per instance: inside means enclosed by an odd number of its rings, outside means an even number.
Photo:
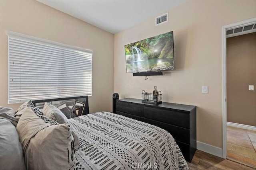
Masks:
[[[126,72],[174,70],[173,31],[124,46]]]

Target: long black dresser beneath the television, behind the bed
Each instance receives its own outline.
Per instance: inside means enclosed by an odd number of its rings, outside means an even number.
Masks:
[[[196,106],[166,102],[154,105],[125,98],[116,100],[116,113],[165,129],[191,162],[196,152]]]

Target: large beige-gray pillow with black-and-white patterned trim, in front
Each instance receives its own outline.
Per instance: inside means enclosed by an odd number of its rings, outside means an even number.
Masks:
[[[27,169],[74,169],[76,158],[70,126],[38,113],[37,107],[22,111],[17,131]]]

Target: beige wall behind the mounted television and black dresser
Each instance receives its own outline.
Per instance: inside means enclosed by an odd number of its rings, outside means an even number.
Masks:
[[[150,18],[115,34],[114,92],[141,98],[157,86],[164,102],[197,106],[197,140],[222,148],[222,26],[255,18],[255,6],[255,0],[188,0],[167,11],[167,23],[155,26]],[[168,31],[174,31],[175,70],[148,80],[126,73],[124,45]]]

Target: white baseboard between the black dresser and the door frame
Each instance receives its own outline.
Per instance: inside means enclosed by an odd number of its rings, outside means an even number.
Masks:
[[[206,143],[202,143],[199,141],[196,141],[196,148],[203,152],[207,152],[209,154],[213,154],[215,156],[222,158],[222,149],[221,148],[214,147],[212,145],[208,145]]]

